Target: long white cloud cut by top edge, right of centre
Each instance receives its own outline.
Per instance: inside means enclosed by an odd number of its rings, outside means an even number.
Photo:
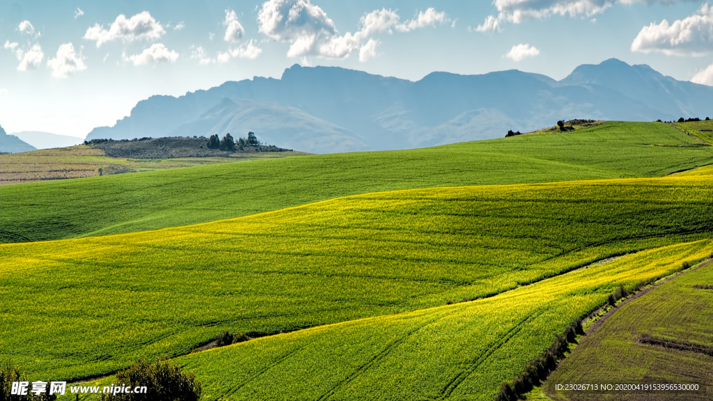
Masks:
[[[543,19],[548,16],[587,16],[600,14],[616,4],[662,3],[674,4],[677,0],[495,0],[498,15],[486,17],[478,25],[478,32],[500,31],[504,21],[520,24],[526,19]],[[682,0],[692,1],[692,0]]]

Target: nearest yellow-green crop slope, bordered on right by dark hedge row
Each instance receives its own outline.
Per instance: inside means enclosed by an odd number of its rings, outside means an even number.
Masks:
[[[703,240],[645,250],[493,298],[265,337],[173,362],[195,372],[208,401],[490,401],[501,382],[617,285],[666,275],[712,246]]]

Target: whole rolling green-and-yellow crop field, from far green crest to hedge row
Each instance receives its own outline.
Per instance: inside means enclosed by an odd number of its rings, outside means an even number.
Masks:
[[[205,400],[492,400],[619,285],[713,252],[712,161],[610,122],[2,186],[0,360],[175,358]],[[196,352],[225,330],[257,338]]]

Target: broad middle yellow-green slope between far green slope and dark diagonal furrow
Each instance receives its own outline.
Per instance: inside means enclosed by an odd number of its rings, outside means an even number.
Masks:
[[[0,352],[53,377],[482,297],[707,238],[709,176],[375,193],[235,220],[0,245]],[[81,328],[81,330],[78,330]]]

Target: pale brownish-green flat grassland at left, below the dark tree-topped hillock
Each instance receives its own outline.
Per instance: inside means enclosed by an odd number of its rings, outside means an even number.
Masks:
[[[137,171],[155,171],[263,158],[302,156],[303,154],[300,152],[232,153],[230,157],[146,160],[112,158],[105,156],[104,151],[101,149],[80,145],[0,155],[0,186],[66,178],[94,177],[99,176],[99,168],[102,168],[104,176],[109,176]]]

